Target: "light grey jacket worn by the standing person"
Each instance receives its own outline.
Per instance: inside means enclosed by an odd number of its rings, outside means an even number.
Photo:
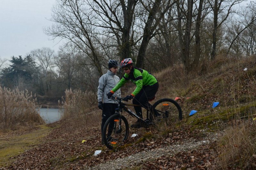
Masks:
[[[115,103],[114,100],[108,99],[107,93],[110,92],[110,90],[112,90],[119,81],[120,78],[110,70],[108,70],[106,74],[103,74],[99,79],[98,102],[103,99],[104,103]],[[121,90],[118,89],[113,96],[121,97]]]

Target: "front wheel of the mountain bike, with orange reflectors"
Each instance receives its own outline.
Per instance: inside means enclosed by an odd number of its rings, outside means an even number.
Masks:
[[[120,114],[112,115],[106,121],[102,140],[108,149],[118,148],[127,139],[129,135],[129,124],[124,116]]]

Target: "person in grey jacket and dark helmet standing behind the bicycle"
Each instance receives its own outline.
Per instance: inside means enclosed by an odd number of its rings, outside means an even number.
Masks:
[[[98,107],[102,110],[101,132],[105,122],[111,115],[116,112],[117,104],[112,99],[108,99],[107,93],[115,87],[120,81],[120,78],[116,76],[118,63],[116,60],[108,61],[108,71],[103,74],[99,79],[98,86]],[[114,97],[121,97],[120,89],[113,94]],[[103,142],[102,142],[103,144]]]

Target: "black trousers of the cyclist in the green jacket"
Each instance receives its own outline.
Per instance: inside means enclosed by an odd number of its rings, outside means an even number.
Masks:
[[[133,98],[133,104],[141,104],[144,108],[148,109],[155,116],[158,115],[156,109],[153,109],[152,105],[148,102],[148,100],[153,99],[158,90],[159,84],[158,82],[154,85],[142,86],[140,92]],[[142,118],[142,109],[141,107],[134,106],[134,110],[138,116]]]

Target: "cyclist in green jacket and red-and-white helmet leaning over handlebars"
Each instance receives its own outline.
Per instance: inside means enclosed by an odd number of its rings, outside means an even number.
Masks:
[[[155,98],[158,90],[159,84],[156,78],[148,71],[134,67],[131,58],[122,60],[120,67],[125,72],[124,77],[110,92],[108,92],[108,98],[110,98],[114,92],[122,87],[127,81],[131,80],[136,85],[136,88],[132,94],[125,97],[126,100],[133,99],[133,104],[141,104],[143,107],[150,110],[157,119],[161,119],[162,116],[156,111],[156,109],[153,109],[152,105],[148,102],[148,100],[153,100]],[[136,114],[142,118],[141,107],[134,106],[134,109]],[[131,127],[140,128],[142,127],[142,124],[138,120],[136,123],[132,124]]]

